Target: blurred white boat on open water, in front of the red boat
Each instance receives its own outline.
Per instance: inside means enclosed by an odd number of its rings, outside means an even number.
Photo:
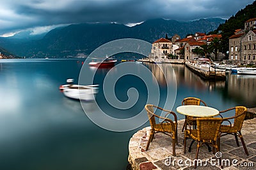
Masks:
[[[73,79],[67,79],[68,83],[72,83]],[[60,91],[65,97],[76,100],[92,101],[98,93],[98,84],[95,85],[78,85],[78,84],[64,84],[60,86]]]

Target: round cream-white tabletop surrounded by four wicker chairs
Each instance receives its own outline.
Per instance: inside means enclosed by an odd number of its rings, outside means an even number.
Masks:
[[[177,107],[177,112],[194,117],[212,117],[219,114],[217,109],[204,105],[180,105]]]

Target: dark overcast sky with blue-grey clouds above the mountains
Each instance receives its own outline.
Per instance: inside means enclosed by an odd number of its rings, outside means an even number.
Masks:
[[[0,0],[0,35],[33,34],[84,22],[228,19],[254,0]]]

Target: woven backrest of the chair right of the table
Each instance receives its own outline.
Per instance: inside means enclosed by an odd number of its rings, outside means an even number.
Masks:
[[[234,119],[234,125],[233,128],[236,130],[241,130],[242,126],[243,126],[243,122],[244,122],[244,118],[246,116],[246,112],[247,112],[247,108],[244,106],[236,106],[236,115],[241,114],[240,116],[237,116]]]

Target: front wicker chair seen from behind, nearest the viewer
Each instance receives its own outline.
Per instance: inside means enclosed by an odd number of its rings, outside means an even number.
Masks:
[[[184,131],[184,153],[186,153],[186,139],[191,138],[197,142],[196,157],[198,158],[199,148],[202,144],[211,144],[213,148],[219,150],[218,139],[220,137],[220,127],[223,122],[222,118],[195,118],[193,121],[196,121],[196,129],[191,129],[192,121],[189,121],[189,129]],[[212,150],[214,153],[214,149]],[[220,160],[221,162],[221,160]],[[196,168],[196,164],[194,165]],[[221,166],[222,168],[222,166]]]

